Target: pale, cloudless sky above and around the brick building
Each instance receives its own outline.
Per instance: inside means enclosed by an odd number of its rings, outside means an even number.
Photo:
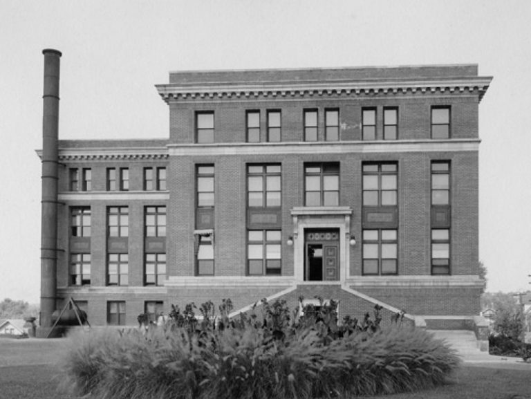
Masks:
[[[63,139],[167,137],[169,71],[479,64],[480,259],[487,290],[527,290],[530,20],[528,0],[1,0],[0,301],[40,296],[43,48]]]

